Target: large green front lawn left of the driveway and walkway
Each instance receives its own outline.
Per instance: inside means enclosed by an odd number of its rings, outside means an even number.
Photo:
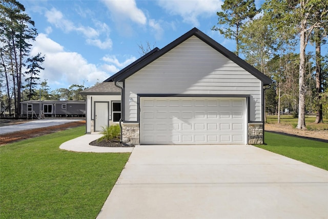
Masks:
[[[0,218],[95,218],[130,153],[80,153],[59,145],[77,127],[0,147]]]

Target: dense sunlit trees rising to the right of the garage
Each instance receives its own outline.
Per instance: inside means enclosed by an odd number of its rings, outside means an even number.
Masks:
[[[305,113],[328,118],[328,2],[321,0],[225,0],[217,30],[233,39],[235,54],[273,79],[265,90],[269,114],[291,112],[299,129]]]

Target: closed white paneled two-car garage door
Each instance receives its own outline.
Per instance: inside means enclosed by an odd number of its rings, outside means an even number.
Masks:
[[[141,97],[140,144],[246,144],[245,98]]]

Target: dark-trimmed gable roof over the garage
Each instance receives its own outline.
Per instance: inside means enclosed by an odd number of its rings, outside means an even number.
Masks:
[[[251,66],[250,64],[245,62],[243,59],[239,58],[235,53],[229,51],[228,49],[226,49],[221,44],[214,41],[214,39],[212,39],[208,35],[204,34],[200,30],[198,30],[197,28],[191,29],[190,31],[183,34],[179,38],[175,39],[175,41],[173,41],[172,43],[170,43],[167,46],[163,47],[162,49],[155,48],[154,50],[152,50],[149,53],[147,53],[146,55],[142,56],[141,58],[139,58],[137,61],[133,62],[132,64],[130,64],[126,68],[120,70],[119,72],[117,72],[113,76],[106,79],[105,82],[110,82],[110,81],[118,82],[118,81],[122,81],[122,80],[128,78],[129,76],[131,76],[135,72],[139,71],[140,69],[144,68],[148,64],[155,61],[157,58],[159,58],[163,54],[165,54],[168,51],[172,50],[174,47],[178,46],[182,42],[185,42],[191,36],[197,36],[199,39],[201,39],[201,41],[208,44],[213,49],[217,50],[222,55],[229,58],[231,61],[233,61],[234,63],[239,65],[241,68],[243,68],[246,71],[253,74],[255,77],[257,77],[258,79],[260,79],[263,82],[263,85],[272,84],[272,80],[271,80],[270,77],[268,77],[267,75],[264,75],[262,72],[260,72],[259,70],[257,70],[256,68],[254,68],[253,66]]]

